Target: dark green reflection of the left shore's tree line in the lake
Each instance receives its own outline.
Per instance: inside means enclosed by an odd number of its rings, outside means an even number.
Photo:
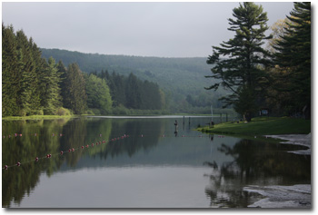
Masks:
[[[121,120],[113,123],[112,119],[76,118],[39,121],[3,121],[3,166],[7,164],[9,170],[3,168],[3,207],[10,207],[10,202],[18,204],[25,193],[30,194],[39,181],[42,172],[51,176],[59,171],[65,163],[69,167],[76,167],[81,158],[85,156],[106,159],[122,153],[129,156],[139,149],[147,150],[153,147],[161,131],[161,123],[151,121]],[[151,131],[152,135],[138,135],[144,131]],[[17,135],[15,135],[15,133]],[[124,133],[130,134],[130,142],[134,144],[100,144],[97,142],[118,138]],[[82,146],[89,144],[89,150]],[[107,148],[107,150],[106,150]],[[61,154],[75,149],[75,152]],[[46,159],[46,154],[52,154]],[[35,158],[38,160],[35,161]],[[17,167],[15,163],[21,162]]]

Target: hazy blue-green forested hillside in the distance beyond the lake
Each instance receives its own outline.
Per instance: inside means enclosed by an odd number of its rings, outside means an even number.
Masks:
[[[210,73],[206,58],[160,58],[126,55],[83,54],[58,49],[41,49],[46,59],[53,56],[66,65],[76,63],[85,73],[134,73],[139,79],[157,83],[164,92],[164,108],[169,112],[208,113],[210,106],[221,108],[218,101],[224,91],[208,92],[213,83],[204,75]]]

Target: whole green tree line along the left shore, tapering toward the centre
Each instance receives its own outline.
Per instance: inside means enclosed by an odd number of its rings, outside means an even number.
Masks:
[[[78,64],[42,57],[32,38],[2,24],[2,115],[112,114],[116,107],[160,110],[155,83],[113,73],[83,73]]]

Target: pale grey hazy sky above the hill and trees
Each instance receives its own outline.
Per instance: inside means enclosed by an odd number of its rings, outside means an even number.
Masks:
[[[285,18],[292,2],[263,5],[268,25]],[[234,37],[228,18],[239,2],[11,3],[2,22],[23,29],[35,44],[83,53],[206,57],[212,45]]]

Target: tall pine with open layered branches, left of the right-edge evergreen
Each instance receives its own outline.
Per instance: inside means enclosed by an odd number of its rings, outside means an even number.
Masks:
[[[251,121],[253,112],[257,111],[257,101],[262,92],[260,80],[265,77],[264,66],[270,64],[266,58],[269,53],[262,48],[264,40],[271,38],[264,33],[268,29],[267,14],[262,5],[244,2],[234,8],[235,19],[230,18],[228,30],[234,31],[233,39],[213,46],[213,54],[208,57],[207,64],[213,64],[213,75],[220,82],[205,88],[217,90],[221,85],[232,92],[221,98],[225,106],[234,105],[236,112]],[[249,103],[251,108],[244,108]]]

